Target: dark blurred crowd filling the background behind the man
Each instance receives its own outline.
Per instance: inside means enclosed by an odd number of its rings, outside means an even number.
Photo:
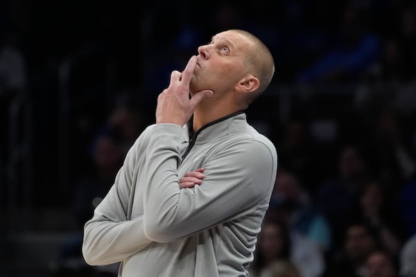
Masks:
[[[0,3],[0,206],[67,211],[46,224],[78,234],[51,276],[115,276],[83,263],[83,224],[170,72],[228,28],[263,39],[276,64],[248,111],[279,154],[250,276],[416,276],[416,1],[140,5]]]

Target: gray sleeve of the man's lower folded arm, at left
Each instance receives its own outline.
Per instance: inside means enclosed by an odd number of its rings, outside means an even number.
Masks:
[[[94,216],[84,227],[83,256],[89,265],[110,265],[125,260],[147,247],[149,240],[143,228],[143,215],[133,219],[136,200],[136,171],[144,162],[141,155],[149,140],[148,129],[139,136],[125,157],[116,175],[114,185],[98,204]],[[139,199],[137,199],[139,201]]]

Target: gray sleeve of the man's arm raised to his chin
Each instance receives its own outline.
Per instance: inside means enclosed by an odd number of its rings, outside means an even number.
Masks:
[[[150,240],[177,240],[268,205],[277,171],[271,143],[250,136],[218,143],[206,157],[202,185],[180,190],[181,132],[177,125],[156,125],[146,150],[152,157],[144,165],[144,233]]]

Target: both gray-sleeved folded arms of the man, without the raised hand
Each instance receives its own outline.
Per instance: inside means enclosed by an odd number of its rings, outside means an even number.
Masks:
[[[146,163],[137,161],[140,144],[129,152],[114,186],[85,224],[83,255],[89,265],[120,262],[153,242],[193,235],[259,204],[264,208],[277,168],[270,148],[244,139],[229,145],[227,151],[218,150],[205,163],[204,172],[200,169],[178,178],[180,153],[175,149],[180,144],[180,129],[155,126],[140,155],[152,158]],[[191,186],[193,190],[187,188]]]

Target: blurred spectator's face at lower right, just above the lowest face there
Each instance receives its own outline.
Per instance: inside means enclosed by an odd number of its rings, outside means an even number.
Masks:
[[[345,251],[351,260],[362,263],[374,249],[376,249],[376,240],[365,226],[354,225],[347,229]]]

